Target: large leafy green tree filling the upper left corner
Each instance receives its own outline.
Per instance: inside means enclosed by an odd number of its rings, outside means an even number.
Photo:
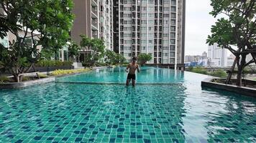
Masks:
[[[53,54],[66,44],[73,1],[3,0],[0,6],[0,37],[7,32],[15,37],[8,48],[0,44],[1,71],[9,71],[20,82],[19,74],[29,71],[42,53]]]

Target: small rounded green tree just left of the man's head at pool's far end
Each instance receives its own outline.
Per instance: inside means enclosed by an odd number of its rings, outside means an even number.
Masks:
[[[108,64],[119,64],[125,61],[125,58],[122,54],[116,54],[114,51],[111,50],[106,50],[105,55],[105,61]]]

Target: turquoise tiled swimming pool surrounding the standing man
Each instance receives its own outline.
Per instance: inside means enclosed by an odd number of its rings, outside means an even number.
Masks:
[[[205,75],[123,68],[0,91],[0,142],[256,142],[256,99],[201,89]]]

